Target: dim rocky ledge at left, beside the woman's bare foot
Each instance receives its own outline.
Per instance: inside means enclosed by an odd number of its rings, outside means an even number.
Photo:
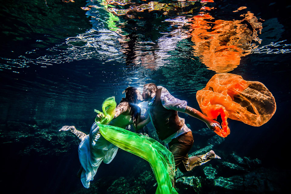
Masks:
[[[0,134],[2,147],[7,147],[15,155],[21,156],[57,156],[77,151],[80,142],[70,133],[59,132],[61,124],[49,122],[40,126],[7,122],[6,130]]]

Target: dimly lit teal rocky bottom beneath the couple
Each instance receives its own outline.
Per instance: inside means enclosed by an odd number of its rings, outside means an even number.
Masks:
[[[14,154],[13,157],[19,158],[34,155],[45,156],[46,159],[49,159],[76,152],[78,140],[70,133],[58,131],[62,127],[62,123],[38,121],[28,124],[9,121],[0,125],[1,148],[3,150],[10,149]],[[82,131],[86,133],[90,129],[85,121],[66,122],[66,124],[75,125],[80,130],[84,129]],[[156,139],[155,132],[151,129],[149,131],[150,137]],[[224,139],[210,135],[207,129],[201,129],[195,133],[204,138],[203,142],[206,143],[203,146],[202,144],[195,145],[196,148],[200,149],[189,156],[200,155],[213,149],[221,159],[211,160],[184,174],[178,170],[176,172],[176,190],[178,193],[282,193],[287,188],[286,183],[290,174],[287,167],[286,170],[278,170],[275,164],[266,166],[259,159],[238,156],[234,152],[215,149]],[[139,158],[135,160],[131,170],[124,176],[108,175],[98,178],[96,175],[90,188],[86,189],[80,186],[71,193],[155,193],[156,180],[149,163]],[[79,165],[79,161],[74,161],[74,163]],[[121,167],[116,166],[116,170]],[[77,172],[78,169],[70,170]],[[25,176],[25,174],[21,176]]]

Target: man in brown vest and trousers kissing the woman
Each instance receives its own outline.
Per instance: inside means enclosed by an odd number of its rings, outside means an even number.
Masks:
[[[204,155],[188,158],[188,151],[190,151],[194,140],[191,130],[185,124],[185,120],[180,118],[177,112],[186,113],[204,121],[212,130],[221,129],[217,121],[207,118],[198,110],[187,106],[186,101],[172,96],[166,88],[157,87],[153,83],[143,86],[142,97],[144,101],[149,102],[147,105],[149,117],[140,124],[145,126],[150,121],[152,122],[159,139],[168,143],[169,150],[174,155],[176,170],[179,167],[181,172],[187,172],[211,159],[220,159],[212,150]]]

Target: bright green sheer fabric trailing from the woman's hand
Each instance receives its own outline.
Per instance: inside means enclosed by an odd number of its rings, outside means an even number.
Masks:
[[[105,103],[106,100],[111,102]],[[106,100],[102,104],[103,110],[109,110],[112,108],[109,108],[108,106],[116,107],[116,103],[115,105],[112,103],[112,97],[111,99],[108,98]],[[107,108],[103,108],[103,106],[106,106]],[[114,117],[114,115],[107,115],[107,113],[108,112],[103,112],[103,114],[108,118]],[[150,163],[158,184],[156,194],[177,193],[176,189],[172,187],[175,177],[175,161],[172,153],[167,148],[150,137],[133,133],[119,127],[103,125],[104,123],[105,120],[101,120],[100,123],[96,121],[101,135],[106,140]]]

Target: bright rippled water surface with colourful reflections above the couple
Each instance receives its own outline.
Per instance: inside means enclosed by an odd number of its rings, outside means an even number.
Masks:
[[[206,6],[213,1],[143,2],[89,1],[86,15],[91,18],[92,29],[47,48],[44,56],[30,58],[29,55],[37,53],[39,48],[27,50],[25,55],[16,59],[1,56],[0,69],[30,64],[46,67],[91,58],[126,61],[127,65],[142,64],[148,69],[155,69],[169,62],[169,52],[175,50],[179,41],[191,38],[194,56],[209,69],[225,73],[239,65],[240,58],[250,54],[261,43],[258,32],[263,28],[262,20],[259,22],[253,13],[247,11],[247,7],[237,8],[233,20],[221,20],[208,13],[216,9]],[[130,17],[125,13],[112,12],[112,9],[117,9],[115,7],[128,10]],[[236,20],[239,15],[242,19]],[[276,51],[269,48],[268,53],[289,52],[288,44],[272,44],[279,48]],[[188,54],[181,52],[185,58],[190,57]]]

